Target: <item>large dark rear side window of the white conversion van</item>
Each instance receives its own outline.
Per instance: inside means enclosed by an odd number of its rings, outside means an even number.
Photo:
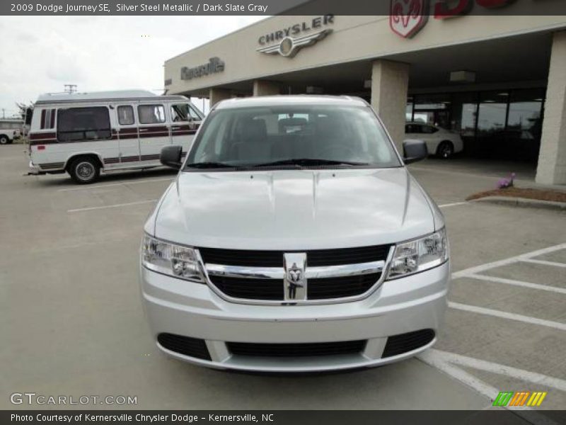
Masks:
[[[110,139],[110,116],[105,106],[59,109],[57,113],[57,140]]]

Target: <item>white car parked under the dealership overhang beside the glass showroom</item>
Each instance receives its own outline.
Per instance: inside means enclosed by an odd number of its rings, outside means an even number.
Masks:
[[[411,122],[405,123],[406,139],[424,140],[429,154],[448,159],[464,149],[464,143],[457,132],[437,125]]]

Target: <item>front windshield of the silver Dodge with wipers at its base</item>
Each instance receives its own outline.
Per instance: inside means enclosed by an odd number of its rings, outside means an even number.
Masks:
[[[185,170],[400,165],[369,107],[313,105],[212,112]]]

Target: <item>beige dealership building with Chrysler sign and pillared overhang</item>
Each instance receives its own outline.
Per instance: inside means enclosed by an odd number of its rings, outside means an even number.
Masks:
[[[459,132],[470,157],[532,162],[538,183],[566,184],[566,16],[526,9],[545,1],[452,17],[434,8],[273,16],[167,60],[165,88],[211,105],[238,96],[360,96],[398,147],[405,121],[434,123]]]

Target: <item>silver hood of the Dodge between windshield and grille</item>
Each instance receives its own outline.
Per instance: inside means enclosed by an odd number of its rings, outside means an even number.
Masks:
[[[231,249],[391,244],[434,231],[429,202],[403,167],[181,172],[154,234]]]

